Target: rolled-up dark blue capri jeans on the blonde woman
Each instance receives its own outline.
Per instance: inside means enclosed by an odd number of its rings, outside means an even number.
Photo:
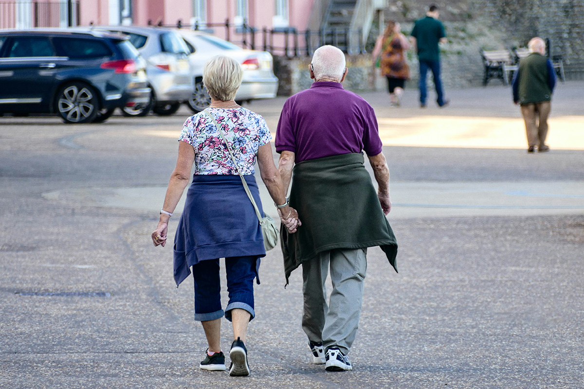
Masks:
[[[208,321],[225,316],[231,321],[231,310],[243,309],[255,317],[253,310],[253,279],[258,276],[256,256],[225,258],[229,303],[221,309],[219,260],[204,260],[193,265],[194,320]],[[258,282],[259,283],[259,282]]]

